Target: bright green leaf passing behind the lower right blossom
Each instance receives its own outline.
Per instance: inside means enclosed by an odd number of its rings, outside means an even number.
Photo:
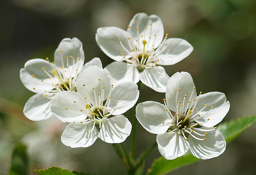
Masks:
[[[235,120],[230,120],[228,122],[222,123],[218,126],[221,134],[224,136],[227,143],[234,140],[243,131],[250,128],[256,123],[256,116],[242,117]],[[171,172],[181,166],[192,164],[194,162],[200,161],[191,154],[186,154],[182,157],[178,157],[174,160],[166,160],[164,157],[159,157],[156,159],[151,169],[148,170],[148,175],[162,175]]]

